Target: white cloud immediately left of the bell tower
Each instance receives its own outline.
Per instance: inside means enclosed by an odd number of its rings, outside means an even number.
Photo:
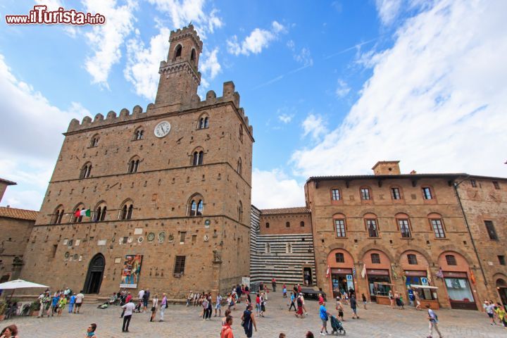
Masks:
[[[161,27],[145,48],[139,34],[127,41],[127,63],[123,75],[134,85],[136,94],[154,100],[160,75],[160,62],[167,58],[170,30]]]

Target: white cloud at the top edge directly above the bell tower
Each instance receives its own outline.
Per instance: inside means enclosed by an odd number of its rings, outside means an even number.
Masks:
[[[207,33],[213,33],[215,28],[223,26],[223,21],[218,17],[218,10],[212,8],[206,13],[204,7],[206,0],[148,0],[154,4],[158,11],[170,15],[176,28],[184,27],[190,22],[194,25],[201,39],[206,39]]]

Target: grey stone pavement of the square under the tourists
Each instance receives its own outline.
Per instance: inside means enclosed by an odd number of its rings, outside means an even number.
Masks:
[[[270,294],[265,318],[256,318],[258,332],[256,337],[277,338],[280,332],[287,334],[288,338],[305,337],[311,330],[315,337],[320,337],[320,319],[318,302],[306,301],[308,316],[303,319],[296,318],[294,312],[287,311],[287,299],[280,294]],[[238,304],[233,311],[234,324],[232,325],[234,337],[245,337],[241,327],[244,304]],[[328,311],[337,315],[334,303],[327,306]],[[15,323],[20,330],[20,338],[84,338],[87,325],[98,325],[97,337],[220,337],[220,318],[211,318],[203,321],[198,318],[200,308],[172,305],[165,311],[165,322],[149,323],[149,313],[134,313],[130,323],[130,333],[122,333],[120,307],[101,310],[92,304],[84,304],[83,312],[79,315],[64,313],[54,318],[15,318],[0,323],[1,327]],[[487,315],[478,311],[466,310],[439,310],[439,326],[445,338],[468,337],[507,337],[507,330],[500,326],[491,326]],[[352,320],[350,308],[345,310],[346,337],[427,337],[426,311],[415,311],[407,308],[404,311],[388,306],[368,304],[368,310],[359,309],[361,319]],[[330,323],[328,323],[331,331]],[[438,334],[434,337],[438,337]]]

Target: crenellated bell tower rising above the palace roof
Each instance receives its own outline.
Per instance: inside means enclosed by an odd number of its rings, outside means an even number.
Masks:
[[[170,33],[167,61],[161,61],[161,75],[155,106],[187,106],[201,83],[198,71],[203,43],[192,24]]]

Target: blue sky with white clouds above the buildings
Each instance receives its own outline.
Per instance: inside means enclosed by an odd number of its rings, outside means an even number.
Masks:
[[[7,25],[35,4],[102,26]],[[204,40],[199,94],[233,80],[254,128],[253,204],[302,206],[309,176],[507,177],[507,1],[7,0],[1,205],[38,209],[72,118],[154,101],[170,30]]]

